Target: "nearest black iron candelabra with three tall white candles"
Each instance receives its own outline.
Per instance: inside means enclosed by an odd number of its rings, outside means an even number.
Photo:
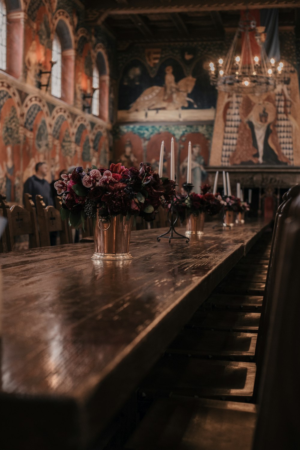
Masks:
[[[162,170],[160,172],[161,167],[161,161],[163,161],[164,156],[164,141],[161,143],[161,153],[160,153],[160,165],[159,165],[159,174],[162,173]],[[161,176],[161,175],[160,175]],[[174,188],[174,195],[170,199],[170,208],[168,211],[168,220],[170,222],[170,227],[166,233],[161,234],[160,236],[157,236],[157,241],[160,242],[161,238],[167,238],[169,239],[169,243],[171,242],[171,239],[180,239],[184,238],[186,239],[186,243],[188,243],[189,238],[184,236],[183,234],[177,233],[175,231],[175,224],[177,223],[177,220],[179,218],[179,213],[176,209],[176,206],[181,205],[185,200],[188,199],[189,194],[194,187],[194,185],[191,183],[192,180],[192,144],[191,141],[188,143],[188,175],[187,175],[187,182],[184,183],[184,189],[186,190],[187,194],[185,196],[178,196],[175,191],[175,187],[178,186],[178,184],[175,183],[175,155],[174,155],[174,138],[171,139],[171,153],[170,153],[170,180],[172,180],[173,188]],[[170,234],[169,234],[170,233]],[[173,234],[176,234],[174,236]]]

